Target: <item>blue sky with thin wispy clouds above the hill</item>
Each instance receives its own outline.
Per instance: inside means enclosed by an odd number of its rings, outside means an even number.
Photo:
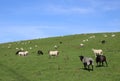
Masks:
[[[0,0],[0,43],[120,32],[120,0]]]

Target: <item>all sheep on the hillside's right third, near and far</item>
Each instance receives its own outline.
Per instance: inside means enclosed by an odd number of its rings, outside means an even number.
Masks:
[[[104,34],[104,37],[108,37],[106,34]],[[112,34],[111,37],[115,37],[115,34]],[[90,36],[89,38],[95,38],[95,36]],[[87,42],[88,39],[86,40],[83,40],[83,42]],[[101,44],[105,44],[106,41],[105,40],[101,40]],[[84,44],[81,43],[80,44],[80,47],[84,47]],[[97,66],[104,66],[104,62],[106,64],[106,66],[108,66],[108,63],[107,63],[107,59],[106,59],[106,56],[103,55],[103,50],[102,49],[94,49],[92,48],[92,52],[94,53],[95,55],[95,61],[96,61],[96,64]],[[92,70],[93,71],[93,66],[94,66],[94,60],[93,58],[91,57],[85,57],[85,56],[79,56],[81,62],[83,63],[84,65],[84,69],[86,70]],[[90,66],[91,66],[91,69],[90,69]]]

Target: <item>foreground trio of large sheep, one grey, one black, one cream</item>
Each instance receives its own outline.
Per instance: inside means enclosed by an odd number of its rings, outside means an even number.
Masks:
[[[108,66],[106,56],[103,55],[103,51],[101,49],[92,49],[93,53],[95,54],[95,60],[97,66],[104,66],[104,62],[106,63],[106,66]],[[80,60],[82,61],[84,65],[84,69],[86,70],[92,70],[93,71],[93,65],[94,65],[94,60],[91,57],[84,57],[84,56],[79,56]],[[92,68],[90,69],[90,66]]]

